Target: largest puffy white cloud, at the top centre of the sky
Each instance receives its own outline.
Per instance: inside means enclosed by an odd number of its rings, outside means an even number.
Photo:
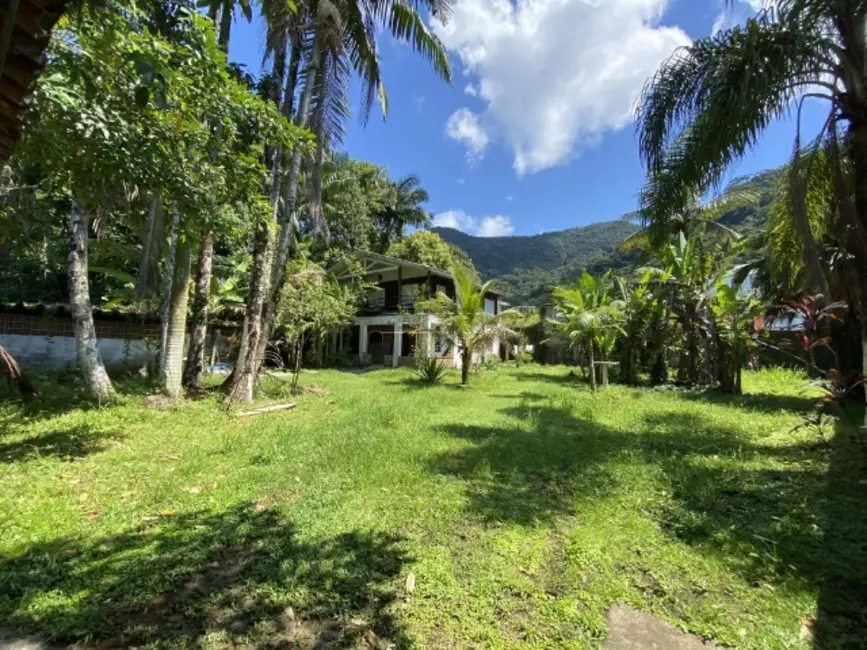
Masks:
[[[481,115],[459,109],[447,132],[471,159],[496,134],[519,174],[567,162],[627,126],[645,79],[689,43],[681,29],[658,25],[666,3],[461,0],[448,24],[434,29],[486,108]]]

